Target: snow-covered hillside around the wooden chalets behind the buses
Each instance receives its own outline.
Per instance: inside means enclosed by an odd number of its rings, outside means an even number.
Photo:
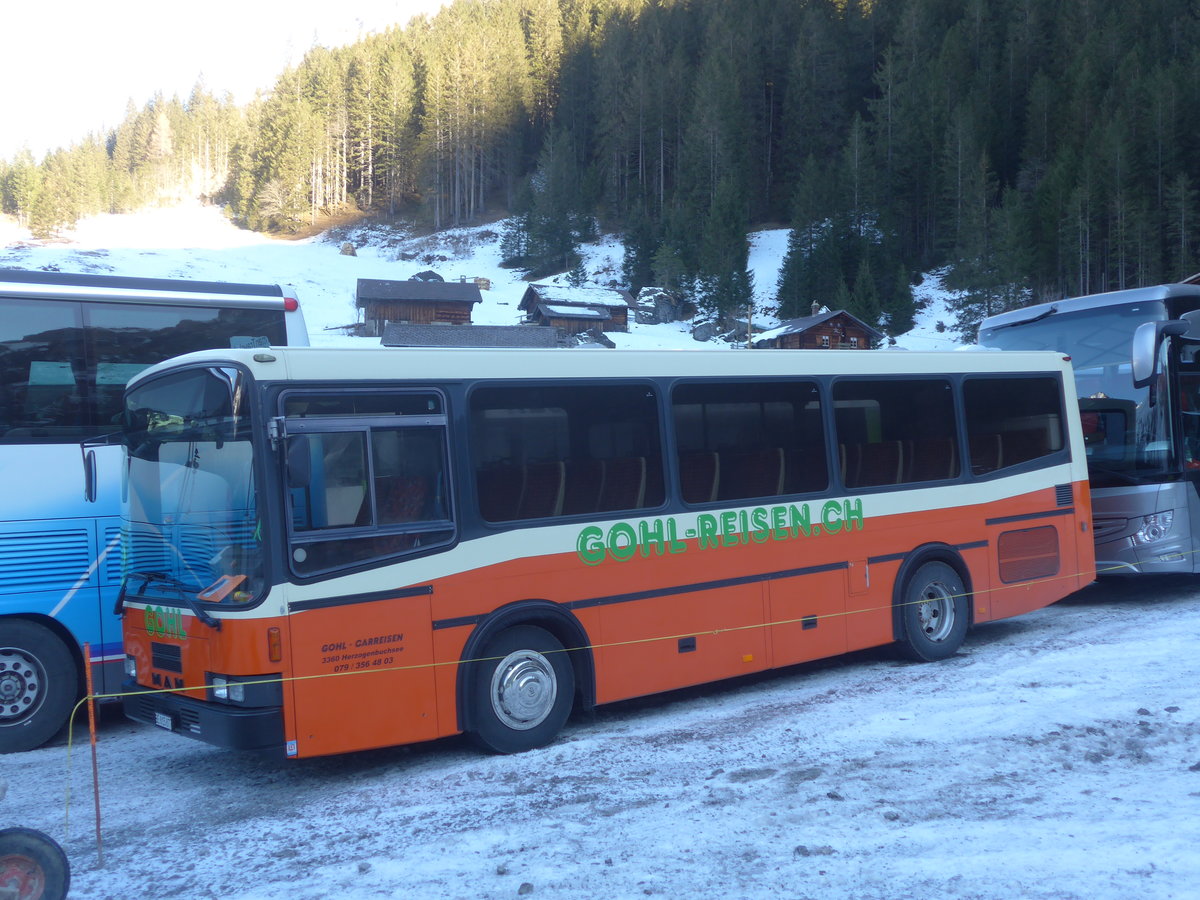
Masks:
[[[341,254],[343,241],[354,244],[356,256]],[[751,235],[750,269],[758,310],[772,306],[786,248],[786,229]],[[608,287],[619,282],[619,240],[610,236],[581,250],[594,283]],[[0,217],[0,268],[292,284],[318,346],[377,343],[376,338],[346,337],[341,330],[358,319],[354,290],[359,278],[403,280],[426,269],[446,281],[488,278],[491,289],[484,292],[484,302],[474,312],[474,322],[481,325],[516,324],[521,319],[517,304],[527,287],[518,272],[500,268],[500,223],[407,239],[390,230],[358,228],[281,240],[239,229],[217,208],[199,205],[95,216],[83,220],[66,238],[52,241],[35,241],[11,220]],[[936,278],[926,278],[916,293],[928,299],[928,307],[898,346],[953,349],[954,340],[936,330],[938,320],[947,320]],[[769,328],[778,320],[756,312],[755,324]],[[688,323],[631,323],[629,334],[612,337],[618,347],[629,349],[714,346],[694,341]]]

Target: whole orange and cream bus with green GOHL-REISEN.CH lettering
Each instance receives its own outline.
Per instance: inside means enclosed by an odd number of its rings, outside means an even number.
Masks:
[[[203,352],[125,397],[126,713],[290,757],[974,623],[1092,580],[1052,353]]]

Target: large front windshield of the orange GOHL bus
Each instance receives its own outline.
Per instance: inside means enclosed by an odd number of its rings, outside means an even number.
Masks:
[[[258,505],[245,376],[191,370],[126,397],[131,594],[246,602],[262,587]]]

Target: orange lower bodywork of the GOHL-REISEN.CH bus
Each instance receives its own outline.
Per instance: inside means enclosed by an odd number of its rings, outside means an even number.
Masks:
[[[530,556],[397,584],[395,598],[384,590],[277,618],[227,618],[220,632],[185,616],[184,678],[191,685],[203,684],[205,671],[282,670],[294,679],[284,689],[284,721],[298,756],[426,740],[458,731],[463,648],[500,607],[565,605],[593,648],[595,700],[606,703],[889,643],[904,557],[929,544],[959,548],[977,623],[1054,602],[1093,577],[1086,482],[1074,485],[1074,497],[1072,508],[1060,508],[1049,487],[976,506],[872,516],[864,494],[868,515],[857,527],[850,517],[839,524],[815,516],[810,535],[680,534],[619,546],[619,558],[592,564],[582,553]],[[1003,583],[1001,535],[1034,527],[1057,532],[1057,574]],[[536,529],[527,533],[536,546]],[[1036,545],[1044,548],[1045,541]],[[406,568],[382,571],[401,580]],[[138,618],[127,617],[126,647],[151,686],[150,637]],[[282,665],[265,659],[271,625],[283,629]]]

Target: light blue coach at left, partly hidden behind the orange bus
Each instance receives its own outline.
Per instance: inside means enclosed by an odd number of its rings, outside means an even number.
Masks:
[[[125,383],[307,343],[287,287],[0,269],[0,752],[62,728],[85,665],[97,692],[121,683],[121,449],[84,442],[116,430]]]

